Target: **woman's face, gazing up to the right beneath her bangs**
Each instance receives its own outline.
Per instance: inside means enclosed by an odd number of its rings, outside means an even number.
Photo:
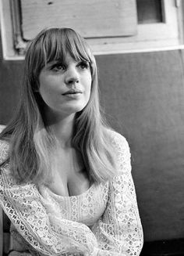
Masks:
[[[39,75],[39,92],[45,103],[45,114],[61,117],[83,110],[90,99],[90,65],[74,60],[69,53],[65,63],[51,61]]]

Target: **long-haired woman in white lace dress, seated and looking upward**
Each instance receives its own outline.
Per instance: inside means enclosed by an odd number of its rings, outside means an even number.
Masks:
[[[19,108],[0,136],[0,204],[19,251],[139,255],[129,146],[101,117],[87,42],[69,28],[41,31],[24,73]]]

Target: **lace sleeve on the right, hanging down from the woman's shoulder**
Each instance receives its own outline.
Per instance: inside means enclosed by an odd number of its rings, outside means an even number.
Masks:
[[[120,174],[109,182],[106,210],[93,229],[101,248],[98,255],[138,256],[143,247],[143,230],[131,175],[129,145],[119,134],[115,134],[113,145]]]

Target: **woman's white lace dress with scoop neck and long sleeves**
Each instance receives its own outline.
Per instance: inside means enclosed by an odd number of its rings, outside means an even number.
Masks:
[[[5,164],[0,172],[0,205],[12,236],[32,255],[123,256],[140,254],[143,230],[126,139],[113,132],[119,175],[93,184],[79,196],[61,197],[46,186],[18,184]],[[9,150],[0,141],[0,162]]]

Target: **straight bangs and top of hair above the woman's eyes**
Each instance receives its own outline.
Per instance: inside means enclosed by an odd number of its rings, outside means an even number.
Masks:
[[[55,60],[65,63],[67,53],[76,61],[93,62],[87,43],[79,34],[69,28],[51,28],[46,31],[42,41],[42,49],[45,66]]]

